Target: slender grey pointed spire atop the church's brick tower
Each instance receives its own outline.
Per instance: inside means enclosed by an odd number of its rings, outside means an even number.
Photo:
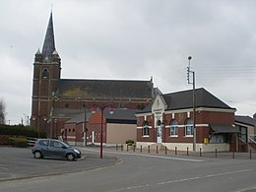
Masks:
[[[51,12],[47,31],[46,31],[43,46],[42,46],[42,51],[41,51],[43,60],[47,63],[50,62],[51,55],[54,51],[55,51],[55,43],[54,43],[52,12]]]

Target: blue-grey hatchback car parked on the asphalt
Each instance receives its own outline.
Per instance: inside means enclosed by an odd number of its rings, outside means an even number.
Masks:
[[[32,148],[32,155],[35,159],[51,157],[75,160],[81,158],[79,150],[55,139],[38,139]]]

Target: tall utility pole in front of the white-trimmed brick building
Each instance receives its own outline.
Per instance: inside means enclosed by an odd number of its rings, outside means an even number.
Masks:
[[[188,84],[192,84],[193,85],[193,152],[196,152],[196,92],[195,92],[195,85],[196,85],[196,81],[195,81],[195,72],[190,70],[190,60],[192,59],[191,56],[188,57],[188,67],[187,67],[187,80],[188,80]],[[193,81],[190,82],[189,80],[189,75],[190,73],[192,73],[192,78]]]

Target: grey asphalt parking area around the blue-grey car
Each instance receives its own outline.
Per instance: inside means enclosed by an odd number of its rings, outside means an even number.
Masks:
[[[54,175],[94,169],[115,164],[118,159],[96,154],[82,154],[81,160],[33,159],[31,149],[0,147],[0,182],[13,179]]]

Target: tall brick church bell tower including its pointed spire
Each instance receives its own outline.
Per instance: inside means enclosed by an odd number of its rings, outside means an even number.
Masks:
[[[55,48],[52,12],[48,22],[42,51],[34,55],[32,79],[32,127],[50,135],[50,112],[53,96],[60,80],[61,59]],[[40,137],[40,135],[38,135]]]

